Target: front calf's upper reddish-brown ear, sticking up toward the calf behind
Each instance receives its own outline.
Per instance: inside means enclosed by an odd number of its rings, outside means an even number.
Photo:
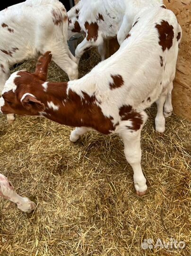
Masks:
[[[35,75],[39,77],[39,79],[46,81],[48,65],[51,62],[52,54],[51,52],[45,52],[42,56],[39,57],[38,63],[36,64]]]

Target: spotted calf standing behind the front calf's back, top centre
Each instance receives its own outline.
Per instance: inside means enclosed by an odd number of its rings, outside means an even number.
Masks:
[[[117,37],[121,45],[135,15],[148,6],[163,6],[163,0],[80,0],[68,11],[69,38],[79,32],[86,33],[76,48],[78,62],[86,50],[95,46],[104,60],[107,39]]]

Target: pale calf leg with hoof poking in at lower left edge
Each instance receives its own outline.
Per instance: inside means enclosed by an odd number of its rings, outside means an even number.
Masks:
[[[0,174],[0,196],[16,203],[18,209],[26,213],[31,213],[35,210],[35,203],[30,201],[27,197],[19,196],[14,191],[13,185],[3,174]]]

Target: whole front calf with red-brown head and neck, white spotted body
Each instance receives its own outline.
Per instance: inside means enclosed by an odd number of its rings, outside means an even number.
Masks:
[[[156,130],[163,133],[163,111],[172,111],[168,93],[182,30],[174,13],[161,7],[142,10],[134,24],[120,49],[81,79],[45,82],[50,52],[40,58],[35,73],[13,73],[0,98],[0,111],[43,116],[77,127],[70,135],[73,142],[90,129],[119,134],[134,172],[136,192],[144,195],[147,184],[140,148],[141,129],[148,117],[144,110],[156,101]]]

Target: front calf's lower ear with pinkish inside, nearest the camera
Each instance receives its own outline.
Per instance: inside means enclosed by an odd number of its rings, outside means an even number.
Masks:
[[[26,110],[32,113],[40,112],[45,110],[45,106],[41,101],[38,101],[35,97],[27,94],[25,98],[21,101],[22,105]]]

